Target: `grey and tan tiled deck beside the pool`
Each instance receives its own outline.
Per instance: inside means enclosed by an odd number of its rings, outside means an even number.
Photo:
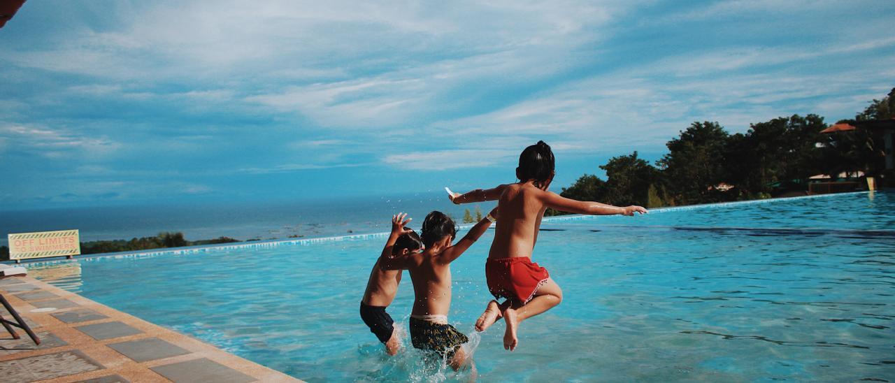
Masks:
[[[0,327],[3,382],[301,381],[32,277],[0,279],[0,294],[41,340]]]

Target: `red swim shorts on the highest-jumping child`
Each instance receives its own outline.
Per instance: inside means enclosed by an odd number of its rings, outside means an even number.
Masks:
[[[488,259],[485,263],[488,290],[495,298],[527,303],[550,274],[528,257]]]

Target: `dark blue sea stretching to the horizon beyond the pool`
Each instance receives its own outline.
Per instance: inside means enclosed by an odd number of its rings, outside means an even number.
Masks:
[[[190,241],[221,236],[240,241],[314,238],[341,234],[376,233],[390,228],[398,212],[413,217],[411,228],[440,210],[461,224],[465,209],[474,215],[479,206],[487,214],[495,202],[454,205],[444,191],[405,195],[345,197],[311,200],[199,201],[142,203],[119,206],[80,206],[4,210],[0,217],[0,245],[7,234],[78,229],[81,242],[130,240],[162,232],[181,232]]]

